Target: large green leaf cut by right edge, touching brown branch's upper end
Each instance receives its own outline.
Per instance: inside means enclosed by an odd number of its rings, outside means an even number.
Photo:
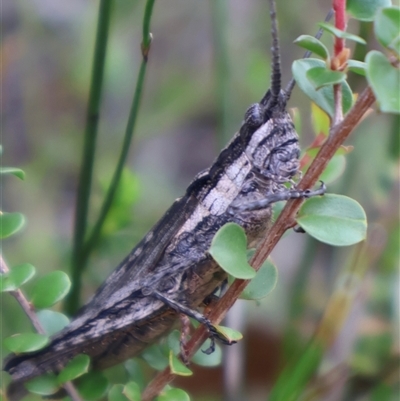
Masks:
[[[400,113],[400,69],[376,50],[367,54],[366,62],[367,79],[380,109],[386,113]]]

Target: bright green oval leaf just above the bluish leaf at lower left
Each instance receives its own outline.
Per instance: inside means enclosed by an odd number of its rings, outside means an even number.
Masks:
[[[60,270],[46,274],[40,278],[33,290],[31,302],[36,308],[48,308],[61,301],[71,288],[68,275]]]

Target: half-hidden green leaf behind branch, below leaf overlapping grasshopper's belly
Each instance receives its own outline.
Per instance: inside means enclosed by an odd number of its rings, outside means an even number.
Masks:
[[[247,300],[262,299],[275,288],[277,282],[278,270],[271,260],[267,259],[244,289],[240,298]]]

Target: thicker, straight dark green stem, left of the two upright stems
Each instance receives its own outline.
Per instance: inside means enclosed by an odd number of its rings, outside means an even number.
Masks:
[[[83,154],[76,198],[74,239],[71,258],[71,278],[73,285],[65,304],[68,313],[73,313],[79,306],[81,275],[83,271],[82,249],[87,229],[94,155],[99,122],[99,108],[103,89],[108,32],[111,19],[111,5],[111,0],[101,0],[99,7],[92,78],[86,114]]]

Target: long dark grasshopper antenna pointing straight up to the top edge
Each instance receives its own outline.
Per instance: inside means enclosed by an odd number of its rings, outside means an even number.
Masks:
[[[278,103],[279,93],[281,91],[281,55],[278,38],[278,21],[276,19],[275,0],[270,0],[271,34],[272,34],[272,69],[270,98],[267,107],[273,107]]]

